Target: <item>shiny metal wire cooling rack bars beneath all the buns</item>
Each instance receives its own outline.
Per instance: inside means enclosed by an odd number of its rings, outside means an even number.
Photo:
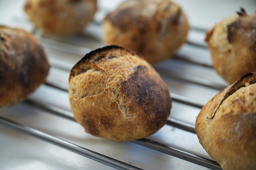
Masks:
[[[17,19],[17,18],[16,18]],[[24,19],[20,19],[18,18],[18,20],[21,20],[21,22],[27,22]],[[100,21],[96,20],[95,23],[99,26]],[[204,31],[204,30],[200,30],[199,31]],[[197,30],[197,31],[198,31]],[[39,37],[41,42],[44,41],[58,41],[59,44],[62,44],[63,46],[48,46],[49,48],[54,48],[56,50],[59,51],[64,51],[64,52],[68,52],[68,53],[74,53],[76,55],[81,55],[81,53],[83,53],[83,55],[85,54],[85,51],[90,51],[90,48],[85,48],[85,47],[79,47],[76,46],[74,44],[69,44],[68,42],[62,42],[61,40],[54,40],[50,37],[45,37],[43,35],[40,35]],[[47,46],[47,43],[43,43],[45,46]],[[196,42],[191,42],[188,41],[187,44],[189,44],[190,46],[196,46],[197,48],[202,48],[202,49],[206,49],[207,46],[205,44],[198,44]],[[68,46],[69,48],[65,48],[65,46]],[[72,50],[70,50],[72,49]],[[79,50],[77,50],[79,49]],[[80,52],[79,52],[80,51]],[[207,60],[198,60],[196,57],[184,57],[183,55],[179,55],[179,53],[177,53],[175,55],[175,57],[172,60],[181,60],[183,62],[188,62],[190,64],[198,64],[200,66],[206,66],[206,67],[212,67],[211,62],[207,61]],[[207,61],[207,62],[204,62]],[[61,61],[57,61],[54,59],[50,60],[51,62],[51,67],[52,68],[58,68],[61,69],[63,71],[70,71],[70,68],[72,67],[72,64],[69,64],[67,62],[61,62]],[[160,73],[160,75],[162,76],[166,76],[170,79],[176,79],[178,81],[183,81],[183,82],[188,82],[188,83],[192,83],[192,84],[198,84],[200,86],[206,86],[209,88],[214,88],[214,89],[218,89],[220,90],[221,88],[224,88],[225,85],[224,84],[219,84],[213,81],[210,81],[208,79],[204,79],[204,78],[200,78],[197,76],[192,76],[192,75],[188,75],[186,73],[180,73],[180,72],[175,72],[175,71],[170,71],[168,69],[159,67],[159,66],[155,66],[155,69]],[[51,86],[53,88],[65,91],[65,93],[67,93],[67,89],[68,86],[66,84],[60,84],[59,82],[56,81],[47,81],[45,83],[45,85],[47,86]],[[186,104],[189,106],[193,106],[193,107],[197,107],[197,108],[202,108],[202,106],[204,106],[205,102],[199,101],[197,99],[192,99],[190,97],[185,97],[176,93],[171,93],[172,99],[173,101],[182,103],[182,104]],[[23,102],[23,104],[26,104],[28,106],[32,106],[32,107],[36,107],[39,108],[41,110],[45,110],[47,113],[49,114],[53,114],[53,115],[57,115],[59,117],[63,117],[65,119],[69,119],[70,121],[75,121],[72,113],[70,113],[67,110],[64,110],[62,108],[50,105],[50,104],[45,104],[43,102],[38,102],[38,101],[34,101],[31,99],[27,99],[25,102]],[[187,124],[183,121],[179,121],[177,119],[173,119],[173,118],[168,118],[167,125],[169,126],[173,126],[175,128],[180,128],[182,130],[186,130],[188,132],[191,133],[195,133],[195,127],[191,124]],[[107,166],[111,166],[113,168],[117,168],[120,170],[135,170],[135,169],[140,169],[137,168],[135,166],[132,166],[131,164],[127,164],[121,161],[118,161],[117,159],[113,159],[111,157],[108,157],[106,155],[102,155],[100,153],[94,152],[92,150],[88,150],[86,148],[83,148],[81,146],[72,144],[69,141],[65,141],[63,139],[54,137],[52,135],[49,135],[47,133],[44,133],[42,131],[36,130],[34,128],[31,128],[29,126],[25,126],[23,124],[20,124],[19,122],[16,121],[12,121],[11,119],[7,119],[3,116],[0,116],[0,125],[2,126],[6,126],[8,128],[11,128],[13,130],[17,130],[19,132],[22,132],[24,134],[36,137],[38,139],[41,139],[43,141],[49,142],[51,144],[54,144],[56,146],[60,146],[62,148],[65,148],[67,150],[70,150],[71,152],[75,152],[77,154],[83,155],[84,157],[88,157],[89,159],[93,159],[95,161],[98,161],[100,163],[103,163]],[[215,161],[212,161],[210,159],[204,158],[204,157],[200,157],[198,155],[189,153],[189,152],[185,152],[183,150],[174,148],[172,146],[168,146],[166,144],[162,144],[160,142],[157,141],[153,141],[150,139],[139,139],[139,140],[134,140],[134,141],[130,141],[132,143],[150,148],[152,150],[156,150],[158,152],[162,152],[164,154],[167,155],[171,155],[180,159],[184,159],[185,161],[189,161],[195,164],[198,164],[200,166],[204,166],[206,168],[210,168],[212,170],[221,170],[220,166],[218,165],[218,163],[216,163]]]

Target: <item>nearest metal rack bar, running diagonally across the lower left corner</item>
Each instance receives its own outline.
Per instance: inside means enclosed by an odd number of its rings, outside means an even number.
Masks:
[[[49,135],[49,134],[44,133],[42,131],[36,130],[36,129],[31,128],[29,126],[19,124],[16,121],[12,121],[12,120],[4,118],[2,116],[0,116],[0,124],[7,127],[7,128],[11,128],[11,129],[16,130],[18,132],[25,133],[29,136],[36,137],[36,138],[41,139],[43,141],[47,141],[51,144],[54,144],[54,145],[59,146],[61,148],[70,150],[70,151],[75,152],[79,155],[82,155],[84,157],[87,157],[89,159],[92,159],[92,160],[97,161],[99,163],[103,163],[107,166],[111,166],[111,167],[119,169],[119,170],[141,170],[140,168],[137,168],[137,167],[132,166],[130,164],[127,164],[127,163],[118,161],[116,159],[107,157],[105,155],[94,152],[92,150],[88,150],[88,149],[83,148],[81,146],[77,146],[77,145],[72,144],[68,141],[60,139],[58,137],[54,137],[52,135]]]

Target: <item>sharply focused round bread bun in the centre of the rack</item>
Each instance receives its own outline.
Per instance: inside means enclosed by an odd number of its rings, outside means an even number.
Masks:
[[[170,114],[166,84],[141,55],[121,46],[91,51],[71,70],[69,99],[85,132],[115,141],[152,135]]]

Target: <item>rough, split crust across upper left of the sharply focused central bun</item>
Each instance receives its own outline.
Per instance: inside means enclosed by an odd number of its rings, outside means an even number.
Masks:
[[[85,98],[85,97],[91,97],[93,95],[100,95],[101,93],[103,93],[103,91],[110,91],[110,97],[113,98],[115,100],[115,102],[117,102],[119,109],[122,111],[122,113],[124,113],[125,117],[134,117],[134,115],[129,115],[128,111],[127,111],[127,107],[126,107],[126,99],[124,95],[120,94],[120,84],[121,82],[126,81],[127,79],[129,79],[129,77],[135,73],[135,71],[137,70],[137,67],[132,66],[129,70],[128,70],[128,74],[123,77],[120,78],[119,77],[119,81],[116,81],[116,76],[113,75],[112,73],[109,73],[108,71],[106,71],[105,68],[103,68],[103,66],[100,66],[102,63],[107,62],[107,60],[114,60],[115,58],[120,58],[123,56],[116,56],[113,54],[108,54],[106,53],[106,51],[112,51],[112,50],[124,50],[126,52],[131,53],[131,51],[129,50],[125,50],[123,47],[121,46],[106,46],[103,47],[101,49],[96,49],[94,51],[91,51],[90,53],[86,54],[71,70],[70,73],[70,78],[72,77],[76,77],[79,76],[81,74],[83,75],[88,75],[88,74],[92,74],[92,73],[96,73],[98,72],[99,74],[97,75],[102,76],[104,75],[102,78],[105,78],[104,81],[98,82],[97,90],[92,90],[88,87],[83,87],[83,89],[81,90],[81,92],[76,91],[75,88],[72,88],[70,90],[70,93],[73,94],[74,97],[81,97],[81,98]],[[137,53],[132,53],[133,55],[137,55]],[[124,59],[126,60],[126,59]],[[132,64],[131,64],[132,65]],[[81,77],[83,77],[83,75],[81,75]],[[84,77],[83,77],[84,78]],[[95,77],[97,79],[97,77]],[[78,79],[78,81],[80,81],[81,79]],[[88,79],[88,81],[90,81]],[[114,83],[113,82],[117,82]],[[95,86],[95,85],[93,85]],[[91,87],[93,88],[93,87]],[[79,95],[79,93],[81,93],[81,95]]]

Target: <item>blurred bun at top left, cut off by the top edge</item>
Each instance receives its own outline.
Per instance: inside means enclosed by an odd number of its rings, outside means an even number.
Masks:
[[[93,19],[97,0],[27,0],[24,9],[43,33],[68,36]]]

